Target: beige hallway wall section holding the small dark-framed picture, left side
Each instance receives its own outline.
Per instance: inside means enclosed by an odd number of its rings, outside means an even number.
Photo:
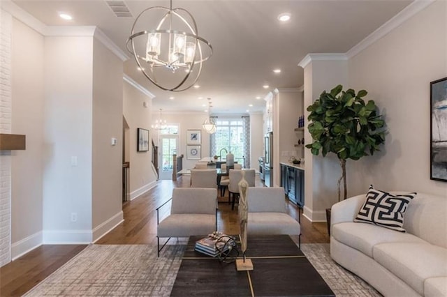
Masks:
[[[143,106],[144,102],[147,102],[147,107]],[[137,128],[149,130],[149,139],[156,137],[150,128],[151,110],[151,98],[135,89],[129,82],[124,82],[123,114],[129,124],[129,191],[131,199],[149,190],[156,183],[156,176],[152,171],[152,144],[149,144],[149,151],[137,152]]]

